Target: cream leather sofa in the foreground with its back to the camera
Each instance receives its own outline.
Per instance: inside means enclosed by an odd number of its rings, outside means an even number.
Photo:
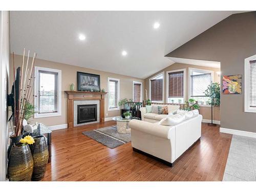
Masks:
[[[202,115],[171,126],[131,120],[129,127],[133,150],[172,166],[175,160],[201,138],[201,122]]]

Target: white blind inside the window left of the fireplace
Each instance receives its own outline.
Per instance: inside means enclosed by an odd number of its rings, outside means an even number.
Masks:
[[[38,113],[56,113],[58,109],[58,73],[38,71]]]

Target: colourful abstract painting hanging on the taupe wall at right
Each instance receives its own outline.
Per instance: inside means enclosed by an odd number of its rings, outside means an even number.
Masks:
[[[242,75],[223,75],[222,81],[223,94],[242,93]]]

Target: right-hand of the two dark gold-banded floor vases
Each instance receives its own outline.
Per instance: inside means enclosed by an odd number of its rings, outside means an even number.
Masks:
[[[45,136],[38,135],[34,136],[33,138],[35,142],[33,145],[31,145],[31,153],[34,159],[32,181],[39,181],[45,176],[49,152]]]

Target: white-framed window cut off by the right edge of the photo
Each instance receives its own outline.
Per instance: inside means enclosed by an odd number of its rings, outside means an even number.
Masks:
[[[256,55],[245,59],[245,112],[256,113]]]

